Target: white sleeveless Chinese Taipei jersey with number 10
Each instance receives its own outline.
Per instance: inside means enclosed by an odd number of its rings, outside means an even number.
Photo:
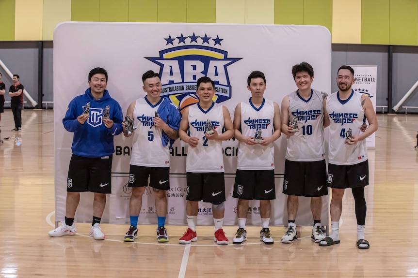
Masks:
[[[298,91],[289,94],[289,119],[298,120],[299,131],[287,139],[286,159],[289,161],[321,161],[325,159],[323,137],[322,93],[311,89],[308,100]]]

